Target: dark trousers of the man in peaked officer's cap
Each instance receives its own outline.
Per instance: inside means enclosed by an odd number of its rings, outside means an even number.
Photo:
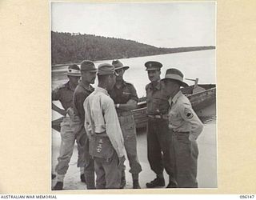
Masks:
[[[174,158],[171,153],[172,130],[168,127],[168,120],[149,118],[147,126],[147,157],[150,168],[155,174],[162,174],[166,170],[170,178],[174,179]]]

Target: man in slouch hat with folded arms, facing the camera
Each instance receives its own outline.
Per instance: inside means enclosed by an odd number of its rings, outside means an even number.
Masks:
[[[138,95],[134,86],[130,82],[123,79],[123,74],[129,69],[129,66],[123,66],[119,60],[112,62],[114,70],[118,77],[114,88],[110,90],[110,97],[114,100],[114,104],[118,113],[118,119],[122,129],[122,135],[125,142],[127,157],[130,163],[130,173],[133,178],[133,188],[139,189],[138,174],[142,171],[142,166],[138,161],[136,126],[134,115],[131,110],[137,108]],[[121,188],[126,185],[125,166],[122,170]]]

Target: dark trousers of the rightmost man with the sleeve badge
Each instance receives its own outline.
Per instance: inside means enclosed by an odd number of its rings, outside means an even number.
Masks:
[[[189,140],[189,133],[174,133],[175,175],[178,187],[198,187],[198,144]]]

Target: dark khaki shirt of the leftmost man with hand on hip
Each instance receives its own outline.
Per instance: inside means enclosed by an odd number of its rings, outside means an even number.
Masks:
[[[62,107],[67,110],[72,105],[74,90],[70,88],[69,82],[58,86],[51,93],[52,101],[60,101]]]

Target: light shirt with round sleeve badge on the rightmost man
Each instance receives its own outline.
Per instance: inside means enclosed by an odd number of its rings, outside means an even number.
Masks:
[[[174,132],[190,132],[190,140],[196,140],[202,133],[203,125],[195,114],[190,100],[181,91],[169,99],[169,127]]]

